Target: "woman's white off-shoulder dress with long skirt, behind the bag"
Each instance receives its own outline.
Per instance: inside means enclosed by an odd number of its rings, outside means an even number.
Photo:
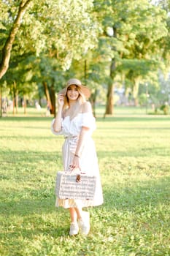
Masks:
[[[90,128],[88,136],[85,138],[85,143],[82,147],[80,157],[80,169],[82,173],[93,173],[97,177],[96,192],[93,200],[74,200],[74,199],[56,199],[55,206],[62,206],[63,208],[72,207],[88,207],[99,206],[103,203],[103,194],[101,188],[100,175],[98,170],[98,159],[96,156],[96,147],[91,138],[92,132],[96,129],[96,121],[92,113],[78,113],[77,116],[70,119],[69,116],[62,118],[61,132],[54,132],[52,121],[51,130],[55,135],[63,135],[65,141],[63,143],[63,170],[69,171],[69,165],[72,163],[74,153],[77,147],[77,141],[82,127]]]

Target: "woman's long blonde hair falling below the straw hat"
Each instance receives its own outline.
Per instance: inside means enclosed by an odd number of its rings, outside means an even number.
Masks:
[[[77,103],[74,105],[72,116],[70,116],[71,120],[75,116],[77,116],[78,113],[81,113],[82,104],[86,102],[85,95],[82,93],[81,88],[79,86],[77,86],[77,91],[79,92],[79,96],[77,98]],[[64,112],[66,111],[67,108],[69,108],[69,99],[67,97],[67,91],[66,91],[66,95],[64,97],[64,103],[63,103],[63,117],[64,117]]]

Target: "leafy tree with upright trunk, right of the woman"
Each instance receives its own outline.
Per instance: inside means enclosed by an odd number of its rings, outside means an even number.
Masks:
[[[112,114],[112,91],[117,72],[123,72],[120,67],[123,68],[125,59],[146,59],[148,62],[149,59],[152,60],[157,56],[158,51],[155,45],[161,37],[166,35],[165,12],[152,6],[147,0],[112,0],[101,1],[100,4],[95,1],[94,5],[99,13],[98,20],[103,24],[104,33],[101,34],[101,38],[109,48],[107,53],[110,60],[110,80],[105,114]],[[112,29],[112,33],[108,32],[108,28]],[[144,43],[144,40],[147,43]],[[152,47],[153,44],[154,47]],[[143,54],[143,50],[147,50],[152,55]],[[160,58],[161,50],[159,54]]]

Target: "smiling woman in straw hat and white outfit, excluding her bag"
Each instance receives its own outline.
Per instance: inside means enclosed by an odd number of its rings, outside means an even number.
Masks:
[[[91,138],[96,124],[90,102],[86,101],[88,97],[90,90],[82,86],[80,80],[70,79],[66,88],[58,93],[58,113],[52,122],[52,132],[55,135],[64,135],[65,138],[62,148],[64,170],[79,168],[82,173],[93,173],[97,176],[93,200],[56,199],[57,207],[69,208],[70,236],[77,235],[79,231],[88,235],[90,216],[88,211],[82,211],[82,208],[103,203],[96,148]]]

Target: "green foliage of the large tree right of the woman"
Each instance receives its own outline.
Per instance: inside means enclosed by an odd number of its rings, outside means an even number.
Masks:
[[[111,84],[130,87],[136,99],[139,83],[146,78],[152,81],[152,73],[163,67],[161,40],[168,34],[166,12],[147,0],[94,1],[94,9],[103,25],[98,59],[107,63],[107,68],[109,64]]]

